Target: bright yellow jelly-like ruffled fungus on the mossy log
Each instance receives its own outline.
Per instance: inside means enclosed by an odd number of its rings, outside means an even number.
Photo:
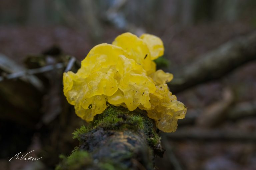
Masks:
[[[130,111],[147,110],[160,130],[173,132],[187,108],[168,90],[173,75],[156,71],[153,60],[163,53],[163,42],[154,35],[121,34],[112,44],[92,48],[77,73],[64,73],[64,95],[86,121],[102,113],[108,102]]]

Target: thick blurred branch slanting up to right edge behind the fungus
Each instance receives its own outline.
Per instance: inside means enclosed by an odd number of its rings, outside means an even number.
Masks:
[[[231,40],[216,50],[199,57],[194,63],[180,67],[168,86],[177,93],[201,83],[219,79],[241,65],[256,59],[256,31]]]

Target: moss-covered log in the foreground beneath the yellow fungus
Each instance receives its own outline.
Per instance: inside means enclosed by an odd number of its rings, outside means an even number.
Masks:
[[[154,157],[164,152],[154,120],[140,109],[109,106],[73,135],[80,145],[70,156],[61,156],[58,170],[154,169]]]

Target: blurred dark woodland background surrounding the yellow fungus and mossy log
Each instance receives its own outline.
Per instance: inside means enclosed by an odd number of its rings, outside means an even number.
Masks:
[[[199,72],[170,84],[188,111],[175,133],[160,132],[156,169],[256,169],[255,31],[255,0],[0,0],[1,169],[54,169],[78,145],[71,133],[84,122],[63,97],[62,73],[71,56],[75,70],[124,32],[160,37],[157,67],[174,78]],[[209,73],[198,64],[208,59],[218,66]],[[42,159],[9,161],[34,149]]]

